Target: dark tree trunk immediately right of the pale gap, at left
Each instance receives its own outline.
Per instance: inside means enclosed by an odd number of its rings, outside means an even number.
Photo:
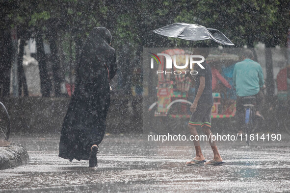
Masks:
[[[52,85],[51,85],[50,78],[47,71],[43,39],[42,39],[42,34],[40,31],[37,31],[36,47],[37,47],[36,57],[37,57],[38,68],[39,68],[41,94],[44,97],[49,97],[51,93]]]

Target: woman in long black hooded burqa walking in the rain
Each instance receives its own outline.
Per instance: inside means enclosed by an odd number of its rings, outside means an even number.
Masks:
[[[75,92],[62,124],[58,156],[89,160],[89,167],[97,166],[110,105],[109,80],[117,71],[110,43],[111,34],[105,27],[91,31],[79,56]]]

